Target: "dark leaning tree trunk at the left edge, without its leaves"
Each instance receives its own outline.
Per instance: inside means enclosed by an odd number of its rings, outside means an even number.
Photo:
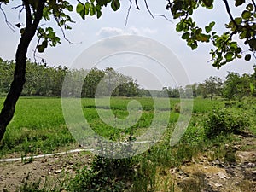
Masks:
[[[16,102],[20,97],[23,85],[26,81],[26,53],[32,38],[37,32],[39,22],[42,19],[45,1],[46,0],[38,1],[38,7],[36,10],[32,10],[28,0],[22,1],[26,9],[26,26],[20,37],[20,43],[16,50],[14,80],[11,83],[9,94],[3,102],[3,109],[0,113],[0,141],[2,141],[6,127],[14,116]],[[33,19],[32,11],[35,11]]]

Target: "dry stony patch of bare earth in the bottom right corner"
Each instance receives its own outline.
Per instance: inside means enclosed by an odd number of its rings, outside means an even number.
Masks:
[[[239,143],[225,147],[231,152],[222,160],[209,160],[203,154],[172,169],[177,191],[256,192],[256,138],[241,137]]]

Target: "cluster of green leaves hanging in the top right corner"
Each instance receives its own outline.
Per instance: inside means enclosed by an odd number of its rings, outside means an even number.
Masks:
[[[253,54],[256,50],[256,4],[254,1],[236,0],[234,1],[236,8],[245,7],[241,15],[234,18],[230,12],[230,2],[223,0],[227,14],[229,15],[230,22],[226,24],[226,32],[218,35],[217,32],[212,31],[215,26],[215,21],[211,21],[204,29],[198,26],[192,18],[195,15],[196,9],[206,8],[213,9],[213,0],[176,0],[167,1],[166,9],[170,10],[174,19],[179,19],[176,26],[177,32],[183,32],[182,38],[186,40],[187,45],[191,49],[196,49],[198,43],[212,44],[216,49],[212,49],[213,67],[221,67],[224,64],[233,61],[236,58],[241,58],[243,53],[239,42],[234,40],[241,39]],[[244,59],[249,61],[251,54],[247,53]]]

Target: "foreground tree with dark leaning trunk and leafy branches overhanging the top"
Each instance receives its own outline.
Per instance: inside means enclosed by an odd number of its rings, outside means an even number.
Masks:
[[[140,9],[137,0],[130,0],[130,2],[135,3],[136,8]],[[191,16],[194,15],[195,9],[201,7],[212,9],[213,0],[167,0],[167,2],[163,4],[163,8],[166,7],[166,9],[170,11],[173,19],[179,20],[176,30],[177,32],[183,32],[182,38],[186,40],[191,49],[196,49],[199,42],[208,43],[212,41],[212,44],[216,47],[215,50],[211,51],[214,67],[221,67],[227,62],[241,58],[241,46],[239,46],[236,40],[233,40],[236,36],[244,41],[248,51],[254,54],[256,49],[256,4],[254,0],[247,1],[247,3],[245,0],[236,0],[236,7],[246,4],[246,9],[236,18],[230,13],[229,2],[227,0],[223,0],[223,2],[230,22],[227,24],[227,32],[224,32],[222,35],[218,35],[217,32],[210,33],[215,24],[214,21],[210,22],[208,26],[205,26],[205,32],[203,32],[202,28],[195,24]],[[8,3],[9,0],[0,0],[0,9],[3,11],[2,5]],[[147,0],[143,1],[143,3],[152,17],[159,16],[152,14],[148,8]],[[85,19],[87,15],[96,15],[97,18],[100,18],[102,15],[102,7],[106,7],[108,4],[110,4],[113,11],[118,10],[120,7],[119,0],[89,0],[85,3],[78,0],[76,12],[83,19]],[[69,24],[73,22],[71,16],[68,15],[70,11],[73,11],[73,5],[65,0],[20,0],[20,6],[17,6],[16,9],[19,8],[19,11],[23,11],[26,15],[26,21],[25,26],[22,26],[20,23],[16,24],[16,26],[20,27],[20,42],[15,54],[14,79],[10,85],[9,94],[3,103],[3,109],[0,113],[0,141],[6,131],[6,126],[15,113],[16,102],[19,99],[26,81],[26,53],[32,38],[34,38],[35,35],[37,36],[37,49],[40,53],[44,52],[44,49],[48,46],[55,46],[61,43],[61,38],[56,35],[53,27],[39,26],[40,20],[55,20],[57,26],[61,27],[63,38],[67,41],[65,30],[71,29]],[[128,15],[129,11],[130,9],[128,9]],[[8,26],[12,26],[8,20],[6,20],[6,23]],[[245,59],[250,60],[251,55],[245,55]]]

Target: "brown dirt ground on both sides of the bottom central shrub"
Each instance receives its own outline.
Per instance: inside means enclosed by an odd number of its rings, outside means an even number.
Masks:
[[[181,191],[195,192],[256,192],[256,138],[242,137],[225,154],[229,162],[209,160],[211,150],[199,158],[185,162],[179,169],[171,169]],[[230,157],[229,157],[230,155]],[[87,152],[61,154],[34,159],[25,162],[0,162],[0,191],[15,191],[22,180],[29,175],[29,180],[47,179],[61,183],[61,179],[73,177],[81,167],[89,165],[91,154]],[[56,183],[55,183],[56,184]]]

